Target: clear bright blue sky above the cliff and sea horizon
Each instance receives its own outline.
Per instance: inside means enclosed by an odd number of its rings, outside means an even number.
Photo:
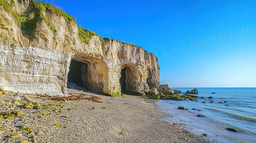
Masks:
[[[256,87],[255,0],[54,3],[75,15],[81,27],[157,55],[161,84]]]

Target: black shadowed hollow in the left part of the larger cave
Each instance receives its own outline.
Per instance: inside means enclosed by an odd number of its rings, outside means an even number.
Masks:
[[[86,67],[86,64],[71,60],[68,73],[68,82],[72,82],[84,87],[84,83],[82,80],[82,67]]]

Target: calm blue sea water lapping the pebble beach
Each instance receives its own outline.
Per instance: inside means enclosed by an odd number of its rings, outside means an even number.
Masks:
[[[186,92],[194,88],[174,88]],[[184,123],[186,129],[196,134],[208,134],[212,142],[256,143],[256,88],[197,88],[195,101],[159,100],[159,108],[174,115],[164,118],[173,123]],[[212,94],[215,92],[215,94]],[[180,94],[182,95],[182,94]],[[208,97],[213,97],[209,99]],[[213,103],[209,103],[213,101]],[[226,101],[226,103],[224,102]],[[206,102],[206,103],[203,103]],[[223,102],[223,103],[219,103]],[[229,106],[226,106],[229,105]],[[183,106],[189,110],[179,110]],[[201,111],[192,110],[199,109]],[[205,117],[198,117],[197,115]],[[234,128],[239,132],[231,132]]]

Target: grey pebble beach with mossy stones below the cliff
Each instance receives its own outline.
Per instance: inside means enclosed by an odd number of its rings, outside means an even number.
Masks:
[[[154,103],[155,100],[128,95],[108,97],[70,89],[68,92],[84,93],[88,97],[97,96],[102,98],[99,99],[102,102],[89,100],[61,102],[39,95],[3,92],[3,96],[0,97],[0,115],[4,116],[6,111],[20,111],[22,115],[14,116],[11,121],[0,120],[0,143],[209,142],[185,130],[182,124],[173,125],[160,120],[172,116],[160,112]],[[14,102],[15,97],[21,98],[17,100],[19,103],[11,103]],[[40,107],[45,105],[45,109],[26,109],[27,106],[22,106],[27,103],[26,100],[28,101],[26,97],[38,102]],[[33,132],[25,131],[25,133],[24,130],[28,128]]]

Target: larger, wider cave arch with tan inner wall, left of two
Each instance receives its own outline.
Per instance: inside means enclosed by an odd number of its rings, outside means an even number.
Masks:
[[[90,91],[109,94],[107,64],[94,57],[75,55],[70,62],[67,81]]]

